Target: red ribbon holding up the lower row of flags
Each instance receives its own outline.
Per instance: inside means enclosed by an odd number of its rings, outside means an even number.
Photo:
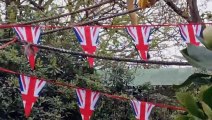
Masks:
[[[15,75],[30,76],[30,75],[26,75],[26,74],[23,74],[23,73],[15,72],[15,71],[12,71],[12,70],[9,70],[9,69],[6,69],[6,68],[2,68],[2,67],[0,67],[0,71],[5,72],[5,73],[10,73],[10,74],[15,74]],[[31,77],[37,78],[36,76],[31,76]],[[62,82],[57,82],[56,80],[47,80],[47,79],[44,79],[44,78],[37,78],[37,79],[43,80],[43,81],[45,81],[47,83],[50,83],[50,84],[53,84],[53,85],[57,85],[57,86],[62,86],[62,87],[67,87],[67,88],[72,88],[72,89],[82,89],[82,90],[86,89],[86,88],[80,88],[80,87],[72,85],[72,84],[66,84],[66,83],[62,83]],[[102,94],[102,95],[104,95],[106,97],[112,98],[112,99],[130,101],[130,98],[127,98],[127,97],[118,96],[118,95],[111,95],[111,94],[103,93],[103,92],[99,92],[99,91],[96,91],[96,92],[98,92],[98,93],[100,93],[100,94]],[[148,102],[148,103],[151,103],[151,102]],[[159,104],[159,103],[151,103],[151,104],[155,105],[155,107],[185,111],[185,108],[182,108],[182,107],[166,105],[166,104]]]

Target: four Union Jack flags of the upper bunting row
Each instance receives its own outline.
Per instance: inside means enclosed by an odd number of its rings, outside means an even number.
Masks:
[[[201,24],[186,24],[179,25],[180,35],[186,43],[194,44],[198,46],[200,42],[196,36],[200,36],[202,32]],[[133,43],[139,53],[142,62],[148,60],[147,53],[149,51],[150,33],[152,26],[136,26],[136,27],[126,27],[127,33],[131,36]],[[29,44],[40,44],[41,27],[40,26],[25,26],[25,27],[14,27],[14,31],[17,33],[19,39],[23,42]],[[97,45],[99,42],[99,32],[101,27],[96,26],[77,26],[73,28],[73,31],[77,37],[78,42],[81,44],[82,49],[85,53],[94,55],[97,50]],[[29,45],[24,45],[27,58],[29,60],[31,69],[34,70],[36,53],[38,52],[38,47]],[[94,66],[93,57],[87,55],[87,60],[90,67]],[[95,56],[96,57],[96,56]],[[108,58],[107,58],[108,59]],[[116,59],[118,60],[118,59]],[[137,62],[137,61],[134,61]]]

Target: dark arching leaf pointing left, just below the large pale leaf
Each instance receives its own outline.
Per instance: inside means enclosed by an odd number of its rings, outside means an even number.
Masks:
[[[181,88],[190,85],[191,83],[196,83],[196,84],[208,84],[211,83],[211,78],[210,75],[207,74],[202,74],[202,73],[194,73],[191,76],[189,76],[185,82],[183,82],[180,85],[174,85],[174,88]],[[208,78],[208,79],[207,79]]]

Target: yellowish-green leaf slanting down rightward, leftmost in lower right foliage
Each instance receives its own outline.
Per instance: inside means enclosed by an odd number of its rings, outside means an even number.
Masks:
[[[203,111],[199,108],[194,98],[191,96],[190,93],[177,93],[176,95],[179,102],[187,109],[187,111],[200,118],[205,119],[205,115]]]

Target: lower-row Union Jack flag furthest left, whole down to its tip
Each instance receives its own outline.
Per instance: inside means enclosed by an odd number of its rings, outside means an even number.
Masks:
[[[35,77],[20,75],[19,84],[24,104],[25,116],[29,117],[31,109],[39,97],[39,93],[46,82]]]

